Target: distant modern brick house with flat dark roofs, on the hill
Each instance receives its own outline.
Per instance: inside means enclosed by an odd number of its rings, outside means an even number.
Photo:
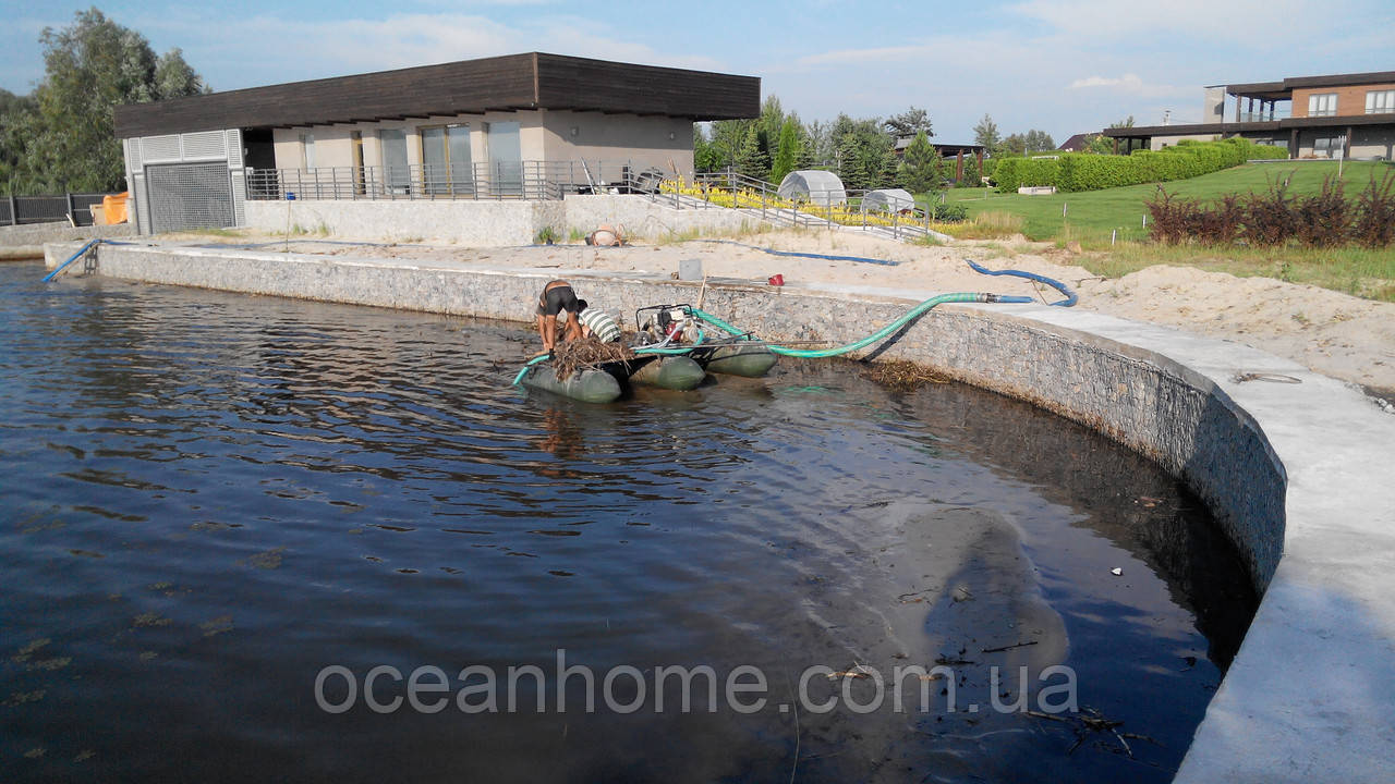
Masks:
[[[1230,99],[1235,99],[1233,103]],[[1105,128],[1119,152],[1242,137],[1289,158],[1395,156],[1395,71],[1205,88],[1201,123]]]

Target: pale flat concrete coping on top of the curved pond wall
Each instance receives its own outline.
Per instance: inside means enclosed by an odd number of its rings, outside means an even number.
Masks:
[[[46,246],[47,265],[78,247]],[[702,285],[660,273],[163,250],[513,278],[566,275],[693,290]],[[785,293],[751,282],[709,279],[706,285],[776,297]],[[784,289],[830,300],[912,303],[933,296],[833,285]],[[1395,780],[1395,737],[1387,731],[1395,706],[1395,605],[1389,603],[1395,594],[1395,417],[1353,384],[1239,343],[1074,308],[943,307],[1154,365],[1253,428],[1286,480],[1282,558],[1176,781]],[[1299,384],[1246,379],[1242,374],[1247,372],[1282,374]]]

